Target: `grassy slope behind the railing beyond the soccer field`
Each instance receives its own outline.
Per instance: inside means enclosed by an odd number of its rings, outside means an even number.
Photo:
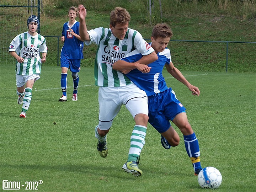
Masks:
[[[132,4],[132,2],[134,4]],[[182,6],[181,4],[178,8],[167,9],[166,7],[171,7],[171,5],[166,4],[168,2],[171,3],[172,1],[162,1],[164,10],[163,18],[160,18],[160,14],[156,12],[158,7],[155,7],[155,12],[153,12],[152,15],[152,23],[153,25],[159,22],[168,23],[174,32],[172,40],[256,42],[255,18],[244,19],[243,16],[235,16],[235,11],[229,12],[222,9],[216,9],[214,12],[205,8],[206,10],[200,11],[194,4],[191,6]],[[47,5],[47,3],[52,4]],[[41,34],[44,36],[60,36],[63,23],[68,21],[66,12],[69,6],[78,3],[81,2],[56,0],[55,4],[53,4],[50,0],[44,1],[44,12],[41,15]],[[129,27],[138,30],[145,39],[150,39],[153,25],[149,25],[149,17],[145,11],[147,5],[144,1],[137,2],[137,0],[130,0],[126,4],[124,1],[109,1],[109,4],[105,5],[105,7],[100,5],[96,6],[96,1],[88,1],[86,4],[88,29],[99,26],[109,27],[110,10],[115,6],[123,6],[128,9],[131,15]],[[157,5],[156,2],[155,5]],[[174,9],[178,11],[175,12]],[[186,9],[188,10],[187,14],[184,13]],[[0,14],[1,26],[8,26],[9,22],[7,22],[7,20],[13,18],[10,13],[26,12],[27,9],[24,8],[24,11],[21,12],[18,11],[18,8],[5,8],[1,10],[6,10],[6,12]],[[5,20],[5,18],[8,19]],[[12,27],[12,25],[9,27]],[[14,29],[14,31],[16,30]],[[15,35],[16,33],[17,32],[15,32]],[[10,34],[8,33],[3,35],[6,35],[6,38],[1,38],[0,41],[6,44],[4,49],[7,51],[7,47],[15,35],[13,34],[11,37],[9,37]],[[57,38],[48,37],[47,46],[49,51],[46,65],[57,65]],[[59,42],[59,49],[61,47],[62,42]],[[224,72],[226,69],[226,43],[172,41],[169,44],[169,48],[172,52],[172,60],[180,70]],[[256,52],[254,50],[256,50],[256,43],[229,43],[228,71],[255,73]],[[96,46],[94,45],[84,48],[84,59],[81,62],[82,66],[94,65],[95,52]],[[2,52],[0,55],[2,57]],[[8,57],[10,56],[8,55]],[[9,60],[10,59],[7,59],[7,61]]]

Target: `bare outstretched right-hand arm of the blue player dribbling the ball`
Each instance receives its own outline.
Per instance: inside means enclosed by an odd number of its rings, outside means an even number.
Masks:
[[[178,70],[173,65],[172,62],[170,62],[169,65],[165,64],[165,67],[166,67],[168,73],[170,73],[175,79],[182,82],[184,85],[186,85],[188,87],[188,89],[192,92],[192,95],[197,95],[197,96],[200,95],[200,91],[199,91],[198,87],[191,85],[190,82],[188,82],[188,80],[182,75],[180,70]]]

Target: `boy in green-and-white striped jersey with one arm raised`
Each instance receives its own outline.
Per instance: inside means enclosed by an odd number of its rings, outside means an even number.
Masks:
[[[95,85],[99,86],[99,124],[95,128],[98,153],[106,158],[108,154],[107,133],[121,106],[125,105],[135,120],[135,126],[130,137],[128,160],[122,168],[134,176],[141,176],[142,170],[137,164],[145,144],[148,98],[145,91],[139,89],[126,75],[114,70],[112,65],[136,49],[144,55],[139,63],[145,65],[136,65],[134,68],[148,73],[147,64],[154,62],[158,56],[138,31],[128,28],[130,15],[126,9],[116,7],[111,11],[110,28],[98,27],[90,31],[87,31],[86,27],[85,7],[79,5],[78,12],[80,37],[85,40],[86,45],[94,43],[98,46],[94,70]]]

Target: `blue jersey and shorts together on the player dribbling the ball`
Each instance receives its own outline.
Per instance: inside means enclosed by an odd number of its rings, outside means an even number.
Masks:
[[[142,54],[136,50],[127,54],[122,60],[126,62],[137,62],[142,58]],[[172,121],[178,113],[185,112],[186,108],[176,98],[175,92],[168,88],[162,70],[165,64],[170,64],[171,52],[166,48],[158,53],[158,60],[150,63],[149,73],[142,73],[138,69],[133,69],[127,77],[140,89],[144,90],[148,96],[149,123],[163,133],[170,127]]]

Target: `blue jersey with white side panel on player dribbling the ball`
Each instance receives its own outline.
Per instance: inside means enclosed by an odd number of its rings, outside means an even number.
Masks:
[[[137,50],[126,55],[122,60],[126,62],[134,63],[142,58]],[[150,63],[148,66],[151,67],[149,73],[142,73],[138,69],[130,71],[126,76],[134,82],[140,89],[144,90],[147,96],[151,96],[168,89],[165,79],[162,76],[162,70],[165,64],[170,64],[171,52],[170,49],[166,48],[163,52],[158,53],[158,60]]]

